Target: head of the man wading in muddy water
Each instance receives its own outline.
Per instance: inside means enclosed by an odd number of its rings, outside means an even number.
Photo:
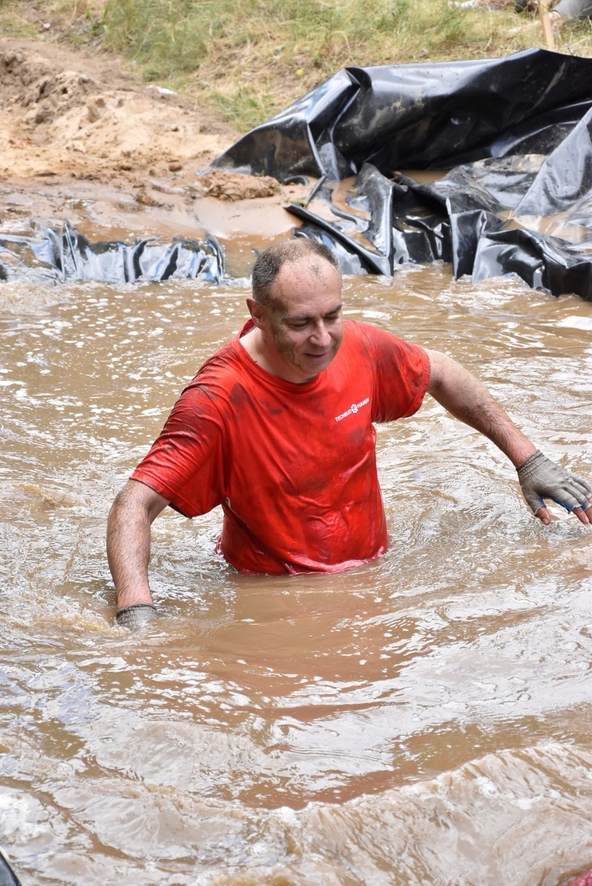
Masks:
[[[273,375],[304,382],[327,369],[342,343],[342,276],[334,253],[306,238],[258,256],[247,299],[261,363]]]

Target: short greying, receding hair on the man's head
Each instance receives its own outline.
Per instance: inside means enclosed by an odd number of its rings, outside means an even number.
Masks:
[[[327,261],[327,264],[341,276],[337,256],[333,250],[317,240],[297,237],[294,240],[281,240],[279,243],[267,246],[258,254],[253,265],[251,280],[253,298],[259,305],[269,307],[273,302],[272,286],[284,265],[302,262],[313,273],[319,274],[319,259]]]

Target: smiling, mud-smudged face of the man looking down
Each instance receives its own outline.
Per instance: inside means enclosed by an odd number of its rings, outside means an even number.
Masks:
[[[271,294],[270,307],[253,311],[265,360],[285,381],[308,381],[327,369],[342,343],[341,276],[320,258],[286,264]]]

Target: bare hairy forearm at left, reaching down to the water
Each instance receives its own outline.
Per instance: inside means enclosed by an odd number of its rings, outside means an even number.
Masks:
[[[111,506],[107,521],[107,560],[117,591],[118,609],[132,603],[151,603],[148,584],[150,562],[150,510],[128,486]]]

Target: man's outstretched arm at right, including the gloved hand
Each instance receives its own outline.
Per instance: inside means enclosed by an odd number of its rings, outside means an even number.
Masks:
[[[468,369],[439,351],[428,350],[427,355],[430,361],[427,392],[450,415],[481,431],[508,456],[518,471],[522,493],[536,517],[544,525],[550,524],[550,513],[543,499],[551,499],[573,511],[581,523],[591,523],[586,509],[592,502],[592,486],[542,455]]]

